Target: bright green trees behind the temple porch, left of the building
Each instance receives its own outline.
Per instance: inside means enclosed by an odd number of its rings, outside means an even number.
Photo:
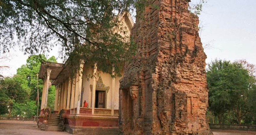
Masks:
[[[57,62],[54,56],[46,59],[45,55],[32,55],[27,64],[17,69],[13,77],[0,78],[0,116],[33,117],[37,113],[37,102],[42,98],[43,81],[38,79],[39,99],[37,99],[37,74],[43,61]],[[55,86],[49,88],[48,107],[53,108]]]

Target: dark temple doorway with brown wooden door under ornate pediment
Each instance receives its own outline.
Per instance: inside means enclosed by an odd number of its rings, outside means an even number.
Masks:
[[[106,91],[95,91],[95,108],[106,108]]]

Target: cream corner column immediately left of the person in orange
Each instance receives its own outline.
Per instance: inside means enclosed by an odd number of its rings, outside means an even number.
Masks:
[[[76,114],[80,113],[80,102],[81,102],[81,90],[82,90],[82,78],[83,78],[83,62],[80,64],[80,70],[78,73],[78,96],[77,96],[77,108],[76,108]]]

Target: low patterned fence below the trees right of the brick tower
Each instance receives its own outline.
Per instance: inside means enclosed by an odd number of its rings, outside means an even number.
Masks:
[[[256,131],[256,125],[209,124],[211,129],[235,129]]]

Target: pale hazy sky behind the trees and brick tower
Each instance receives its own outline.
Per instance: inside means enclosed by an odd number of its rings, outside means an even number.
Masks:
[[[200,0],[192,0],[196,3]],[[201,41],[210,47],[204,49],[207,59],[226,59],[230,61],[246,59],[256,65],[256,1],[254,0],[207,0],[199,15]],[[54,47],[47,53],[47,58],[55,56],[58,63],[59,48]],[[3,76],[13,76],[17,68],[26,64],[29,55],[24,55],[19,48],[11,49],[11,58],[0,61],[1,66],[10,68],[0,71]]]

